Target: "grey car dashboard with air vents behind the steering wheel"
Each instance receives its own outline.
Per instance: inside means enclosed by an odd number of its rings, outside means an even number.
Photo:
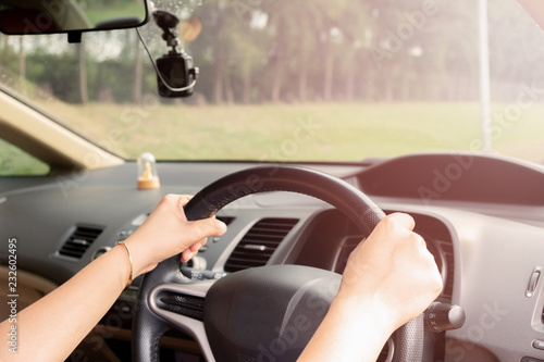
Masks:
[[[224,175],[259,164],[157,166],[162,187],[153,190],[136,188],[134,162],[0,179],[0,230],[2,240],[17,239],[17,267],[60,285],[127,238],[164,195],[196,194]],[[544,361],[544,290],[539,283],[544,266],[544,167],[449,153],[300,166],[343,178],[386,213],[415,217],[416,232],[424,237],[444,279],[438,300],[460,305],[467,316],[457,330],[425,335],[434,350],[430,361]],[[220,278],[265,264],[342,273],[349,252],[364,237],[339,211],[298,194],[252,195],[217,216],[228,229],[209,238],[183,265],[187,278]],[[112,350],[129,342],[138,283],[123,292],[95,332]],[[88,344],[98,346],[96,340]],[[163,348],[199,354],[198,346],[181,332],[163,338]]]

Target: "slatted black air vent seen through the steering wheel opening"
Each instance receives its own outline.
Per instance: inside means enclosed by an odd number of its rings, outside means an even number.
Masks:
[[[262,219],[255,224],[225,263],[225,272],[237,272],[267,264],[297,219]]]

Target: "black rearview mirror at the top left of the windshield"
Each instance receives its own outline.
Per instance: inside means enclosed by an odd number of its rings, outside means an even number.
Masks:
[[[9,35],[129,28],[148,20],[146,0],[0,0],[0,30]]]

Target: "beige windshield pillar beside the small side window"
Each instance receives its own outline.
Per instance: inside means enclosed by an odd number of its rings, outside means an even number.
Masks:
[[[1,91],[0,137],[51,168],[95,170],[124,163],[123,159]]]

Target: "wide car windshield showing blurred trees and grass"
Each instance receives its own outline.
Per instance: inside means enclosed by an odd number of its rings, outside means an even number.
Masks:
[[[361,161],[484,150],[478,1],[154,1],[199,67],[164,99],[135,29],[0,36],[1,89],[127,159]],[[104,10],[107,11],[107,10]],[[112,10],[115,11],[115,10]],[[544,159],[544,38],[489,4],[491,151]],[[140,28],[153,60],[161,29]]]

